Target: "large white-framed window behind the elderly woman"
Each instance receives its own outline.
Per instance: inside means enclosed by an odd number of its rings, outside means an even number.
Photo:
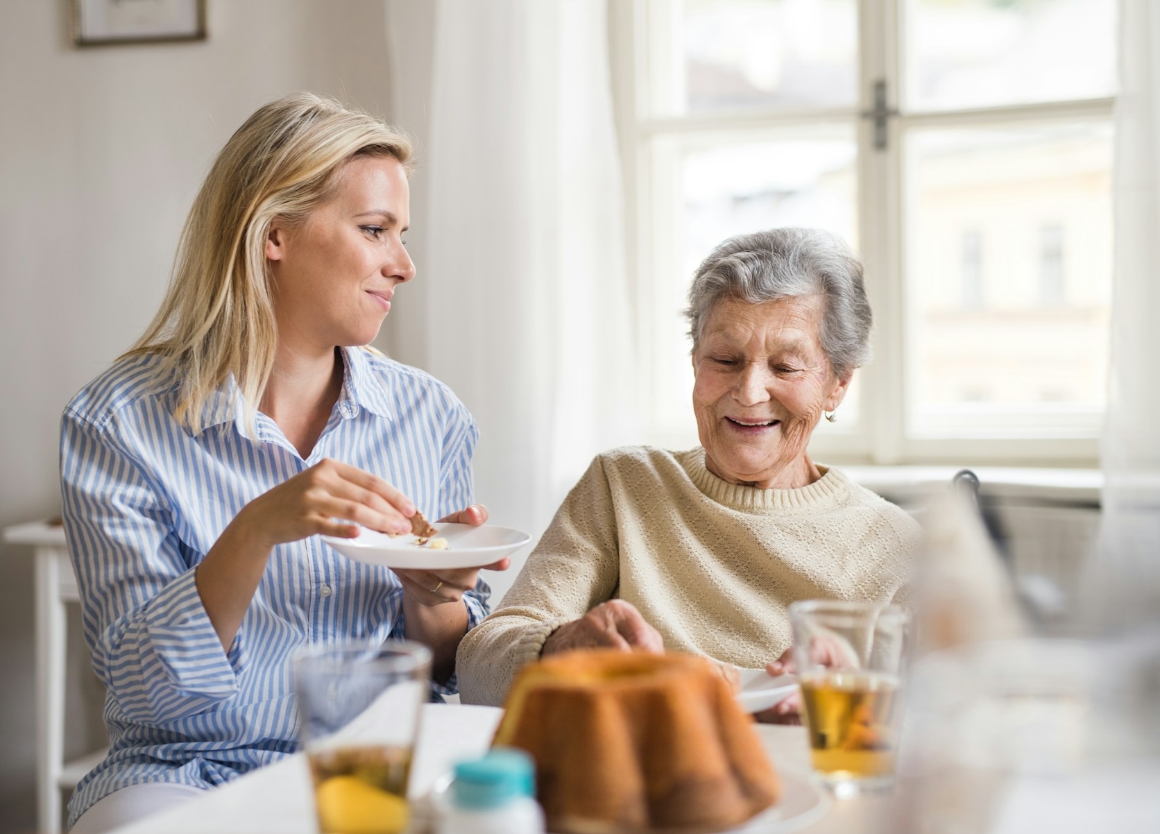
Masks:
[[[1116,0],[611,8],[653,442],[696,442],[696,264],[795,225],[860,252],[875,310],[876,358],[818,457],[1095,460]]]

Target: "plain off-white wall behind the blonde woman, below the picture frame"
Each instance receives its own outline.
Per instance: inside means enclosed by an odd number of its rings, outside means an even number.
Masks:
[[[85,50],[66,10],[0,3],[0,527],[58,512],[60,411],[157,309],[230,133],[295,89],[390,104],[382,0],[210,0],[204,43]],[[35,828],[32,660],[31,553],[0,545],[0,832]]]

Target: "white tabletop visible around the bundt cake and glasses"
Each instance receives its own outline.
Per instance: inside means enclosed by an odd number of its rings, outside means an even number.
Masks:
[[[422,796],[440,775],[461,759],[481,755],[488,747],[502,710],[494,706],[429,704],[423,708],[419,744],[411,770],[411,793]],[[759,726],[766,749],[782,769],[805,771],[805,731]],[[310,793],[310,771],[303,754],[256,770],[172,811],[146,818],[110,834],[317,834]],[[851,834],[869,831],[885,810],[885,798],[835,802],[825,818],[803,831],[810,834]]]

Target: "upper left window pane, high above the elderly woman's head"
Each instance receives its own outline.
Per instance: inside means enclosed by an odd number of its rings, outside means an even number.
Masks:
[[[665,84],[662,111],[842,107],[857,99],[855,0],[683,0],[669,31],[680,68]]]

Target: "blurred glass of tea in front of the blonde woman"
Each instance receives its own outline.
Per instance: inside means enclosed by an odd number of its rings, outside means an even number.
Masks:
[[[406,640],[313,646],[293,660],[321,834],[401,834],[430,652]]]

